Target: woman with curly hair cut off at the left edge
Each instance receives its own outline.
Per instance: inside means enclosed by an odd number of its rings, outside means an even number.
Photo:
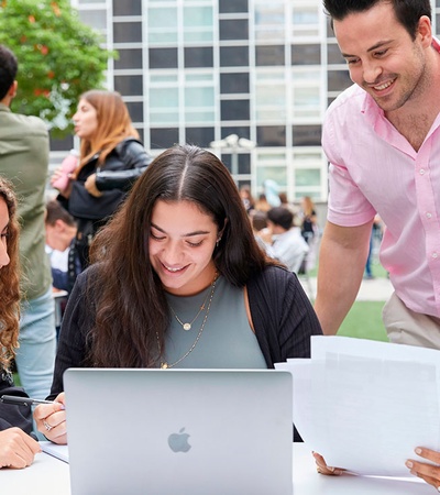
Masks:
[[[26,397],[13,384],[11,361],[19,345],[19,223],[15,196],[0,177],[0,396]],[[25,468],[41,451],[32,437],[30,407],[0,402],[0,468]]]

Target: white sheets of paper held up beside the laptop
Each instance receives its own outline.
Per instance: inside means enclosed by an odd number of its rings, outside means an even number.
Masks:
[[[385,476],[407,476],[418,446],[440,450],[438,351],[411,360],[392,349],[400,345],[318,340],[312,359],[276,365],[293,373],[294,422],[311,450],[329,465]]]

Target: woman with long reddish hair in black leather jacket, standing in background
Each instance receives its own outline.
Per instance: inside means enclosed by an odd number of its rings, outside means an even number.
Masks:
[[[79,165],[58,199],[77,221],[76,249],[84,270],[96,232],[114,213],[151,157],[117,91],[85,92],[73,120],[81,140]],[[61,176],[58,168],[51,183]]]

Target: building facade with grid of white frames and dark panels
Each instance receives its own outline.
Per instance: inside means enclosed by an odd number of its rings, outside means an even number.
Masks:
[[[251,145],[212,147],[239,186],[257,196],[273,179],[292,201],[327,200],[322,118],[351,81],[321,0],[72,3],[118,51],[108,88],[122,94],[154,155],[243,138]],[[436,26],[440,0],[433,8]]]

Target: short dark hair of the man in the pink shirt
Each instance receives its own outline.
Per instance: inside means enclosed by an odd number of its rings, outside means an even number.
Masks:
[[[429,0],[323,0],[323,7],[333,21],[342,21],[346,15],[365,12],[378,3],[391,3],[397,21],[407,30],[411,38],[416,36],[417,25],[422,15],[431,19]],[[385,21],[386,22],[386,21]]]

